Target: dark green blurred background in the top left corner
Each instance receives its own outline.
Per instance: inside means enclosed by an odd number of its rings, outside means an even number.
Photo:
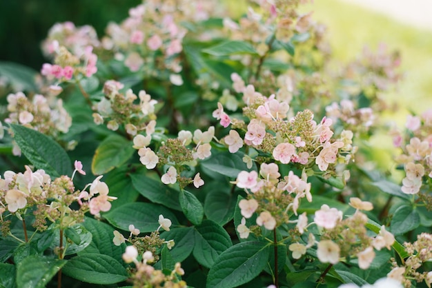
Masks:
[[[99,36],[109,21],[119,22],[141,0],[0,0],[0,60],[40,70],[46,62],[41,41],[57,22],[92,25]]]

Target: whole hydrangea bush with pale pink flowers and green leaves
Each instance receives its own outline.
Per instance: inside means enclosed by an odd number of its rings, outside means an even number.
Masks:
[[[0,63],[0,286],[431,287],[432,110],[385,123],[399,54],[335,63],[302,2],[148,0]]]

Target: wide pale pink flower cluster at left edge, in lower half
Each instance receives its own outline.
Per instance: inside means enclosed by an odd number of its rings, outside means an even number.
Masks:
[[[75,161],[75,173],[85,174],[81,162]],[[60,176],[52,180],[43,169],[32,172],[26,166],[26,172],[7,171],[0,178],[0,209],[3,234],[8,234],[8,224],[12,215],[23,219],[33,210],[36,220],[32,225],[38,231],[48,229],[48,221],[59,225],[61,229],[84,221],[84,214],[98,215],[107,212],[115,197],[108,196],[108,186],[100,181],[101,176],[82,190],[76,190],[72,178]],[[89,192],[86,191],[90,187]],[[83,202],[83,200],[86,200]],[[79,203],[79,209],[72,209],[72,203]]]

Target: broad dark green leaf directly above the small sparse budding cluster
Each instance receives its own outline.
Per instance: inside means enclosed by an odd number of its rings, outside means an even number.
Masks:
[[[159,227],[159,215],[169,218],[173,225],[178,224],[177,218],[164,206],[153,203],[128,203],[104,214],[109,223],[119,229],[128,231],[133,224],[141,233],[153,232]]]

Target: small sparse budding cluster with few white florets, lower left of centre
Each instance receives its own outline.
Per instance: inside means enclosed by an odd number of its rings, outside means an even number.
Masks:
[[[144,251],[150,251],[154,255],[156,254],[156,251],[164,244],[166,244],[166,247],[168,249],[171,249],[174,247],[175,243],[174,240],[165,241],[164,239],[161,239],[159,237],[159,230],[162,228],[165,231],[170,231],[171,227],[171,220],[168,218],[164,218],[163,215],[159,215],[158,219],[159,227],[156,229],[155,232],[152,232],[150,235],[146,236],[139,236],[141,232],[139,229],[135,228],[133,224],[130,224],[129,229],[129,236],[128,238],[125,238],[123,234],[115,230],[114,238],[112,239],[112,242],[116,246],[120,246],[122,243],[125,243],[128,241],[128,243],[131,243],[139,253],[144,253]],[[155,255],[155,261],[159,260],[159,256]]]

